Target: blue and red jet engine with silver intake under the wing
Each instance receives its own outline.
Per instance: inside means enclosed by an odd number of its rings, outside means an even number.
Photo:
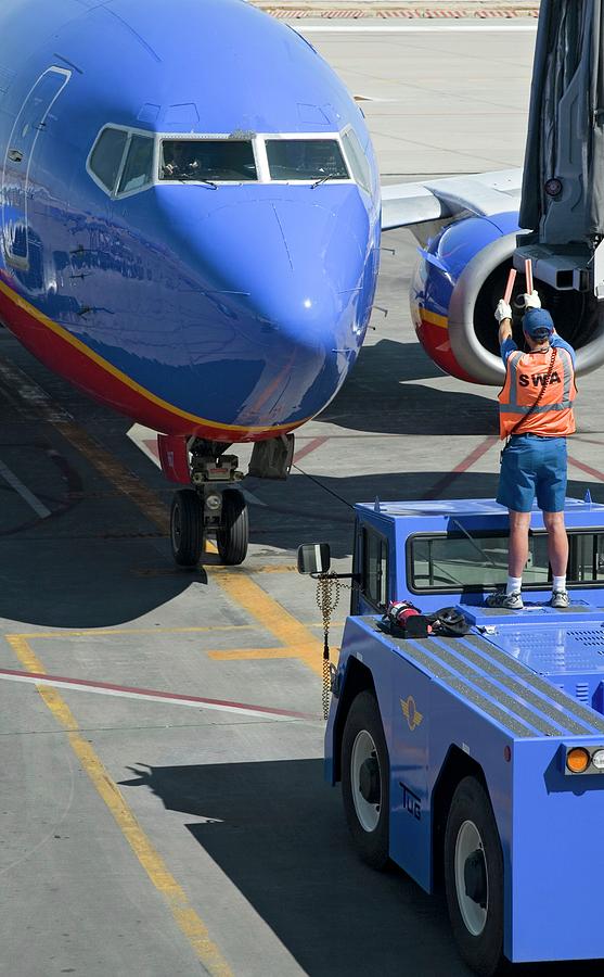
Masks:
[[[512,267],[517,216],[514,212],[455,220],[422,251],[410,295],[417,339],[437,366],[460,380],[503,383],[493,313]],[[537,281],[536,288],[556,331],[577,351],[577,375],[602,366],[604,303],[589,292],[556,291]],[[512,309],[521,348],[525,291],[525,278],[518,274]]]

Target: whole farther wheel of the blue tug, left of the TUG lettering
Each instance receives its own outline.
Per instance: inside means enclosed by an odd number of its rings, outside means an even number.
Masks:
[[[388,864],[389,761],[375,696],[354,700],[342,737],[342,799],[357,852],[372,868]]]

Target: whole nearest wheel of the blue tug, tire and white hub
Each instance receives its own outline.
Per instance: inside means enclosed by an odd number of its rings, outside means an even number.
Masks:
[[[503,855],[488,795],[476,777],[460,782],[449,809],[445,890],[464,961],[481,977],[503,973]]]

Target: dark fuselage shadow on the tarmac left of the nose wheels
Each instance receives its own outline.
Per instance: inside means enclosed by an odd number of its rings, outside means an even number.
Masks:
[[[47,627],[110,627],[162,607],[205,573],[178,571],[168,541],[171,487],[128,439],[131,421],[49,373],[11,337],[2,348],[77,424],[97,437],[141,491],[167,503],[165,529],[104,478],[43,418],[23,415],[0,392],[0,457],[47,506],[40,519],[0,479],[0,618]]]

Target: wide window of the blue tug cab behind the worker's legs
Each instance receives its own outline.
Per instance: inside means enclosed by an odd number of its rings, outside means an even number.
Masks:
[[[548,537],[529,534],[529,554],[523,573],[525,589],[551,585]],[[568,533],[568,586],[604,583],[604,532]],[[410,588],[415,594],[483,591],[507,580],[507,535],[472,532],[412,536],[407,543]]]

